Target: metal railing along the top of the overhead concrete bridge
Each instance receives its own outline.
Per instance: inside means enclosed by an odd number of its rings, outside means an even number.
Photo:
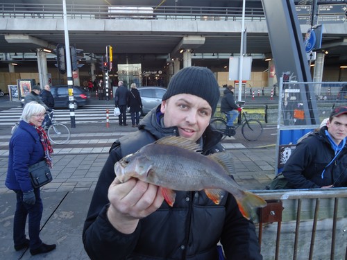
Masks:
[[[117,8],[117,10],[115,10]],[[62,4],[49,3],[0,3],[3,18],[60,19]],[[235,21],[242,19],[242,8],[196,7],[196,6],[107,6],[67,4],[70,19],[164,19]],[[265,19],[262,8],[246,8],[245,19]]]

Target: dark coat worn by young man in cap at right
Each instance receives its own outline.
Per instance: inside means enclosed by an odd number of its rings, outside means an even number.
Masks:
[[[335,161],[335,157],[325,126],[301,141],[283,168],[283,175],[293,189],[313,189],[334,184],[334,187],[347,187],[347,144]],[[324,171],[323,179],[321,173]]]

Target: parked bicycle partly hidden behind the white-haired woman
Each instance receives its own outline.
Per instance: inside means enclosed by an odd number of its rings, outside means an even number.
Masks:
[[[12,127],[12,133],[15,132],[19,123],[16,123],[15,126]],[[49,141],[53,144],[65,144],[69,141],[71,137],[71,133],[69,128],[63,123],[58,123],[53,119],[53,111],[46,112],[46,116],[44,117],[44,125],[42,128],[46,131]]]

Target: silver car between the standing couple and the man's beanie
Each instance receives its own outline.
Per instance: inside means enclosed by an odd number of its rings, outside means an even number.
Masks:
[[[150,112],[153,107],[156,107],[162,103],[162,96],[164,96],[167,89],[164,87],[138,87],[139,96],[143,105],[143,114]]]

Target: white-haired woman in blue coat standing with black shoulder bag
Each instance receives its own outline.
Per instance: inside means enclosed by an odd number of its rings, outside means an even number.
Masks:
[[[30,248],[32,255],[50,252],[56,245],[46,245],[40,239],[42,200],[40,188],[33,188],[29,176],[29,166],[46,160],[51,166],[53,149],[46,132],[41,127],[45,109],[37,102],[26,104],[18,128],[10,139],[6,187],[15,191],[17,205],[13,218],[13,241],[15,250]],[[29,239],[25,226],[28,216]]]

